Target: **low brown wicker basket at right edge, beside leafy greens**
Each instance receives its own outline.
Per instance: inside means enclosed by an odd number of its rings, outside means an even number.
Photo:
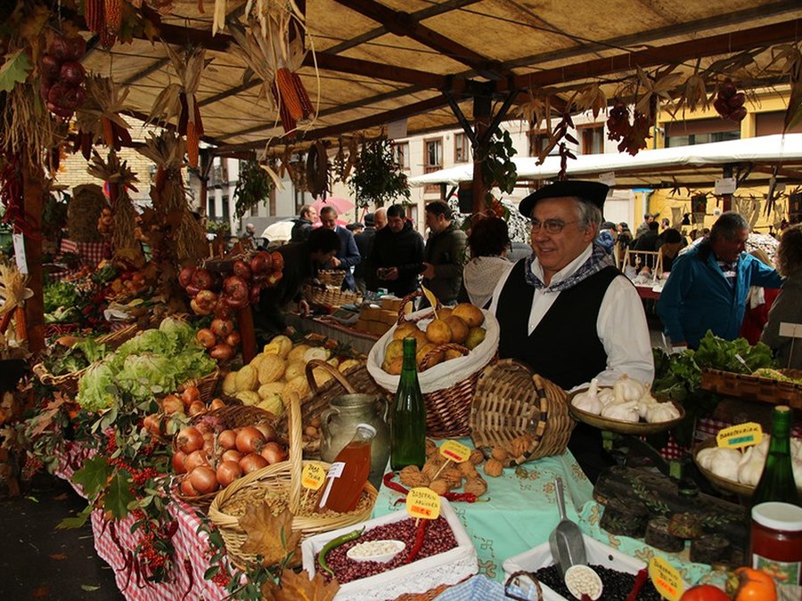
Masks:
[[[779,371],[790,378],[802,375],[799,370]],[[736,374],[731,371],[702,370],[701,388],[724,396],[736,396],[802,409],[802,384],[793,382]]]

